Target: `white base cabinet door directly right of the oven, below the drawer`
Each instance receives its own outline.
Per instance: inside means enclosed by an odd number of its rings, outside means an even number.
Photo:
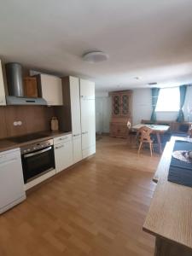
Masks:
[[[73,143],[61,143],[54,146],[55,149],[55,169],[61,172],[73,165]]]

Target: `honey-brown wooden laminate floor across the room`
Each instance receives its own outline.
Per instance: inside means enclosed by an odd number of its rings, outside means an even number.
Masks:
[[[96,155],[0,216],[0,256],[151,256],[142,230],[160,157],[102,137]]]

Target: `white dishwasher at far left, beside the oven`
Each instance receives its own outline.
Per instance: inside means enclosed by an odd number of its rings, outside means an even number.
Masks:
[[[26,199],[20,148],[0,153],[0,213]]]

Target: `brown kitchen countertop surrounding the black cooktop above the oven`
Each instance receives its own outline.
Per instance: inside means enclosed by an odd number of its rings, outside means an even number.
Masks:
[[[32,143],[39,143],[42,141],[52,139],[54,137],[60,137],[62,135],[72,134],[72,131],[68,131],[68,132],[65,132],[65,131],[39,131],[39,133],[44,134],[45,136],[40,137],[38,139],[34,139],[32,141],[27,141],[26,143],[15,143],[15,142],[11,141],[11,138],[1,139],[0,140],[0,152],[6,151],[9,149],[20,148],[20,147],[23,147],[23,146],[26,146],[26,145],[29,145]]]

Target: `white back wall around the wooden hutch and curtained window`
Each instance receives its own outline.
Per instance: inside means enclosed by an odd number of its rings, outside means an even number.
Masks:
[[[189,109],[192,110],[192,86],[187,89],[185,98],[185,104],[183,107],[184,117],[186,121],[192,122],[192,112],[189,113]],[[109,132],[109,123],[111,119],[112,102],[108,93],[102,93],[96,95],[96,131],[97,132]],[[133,90],[132,97],[132,122],[136,125],[141,122],[142,119],[150,119],[152,113],[151,107],[151,90],[135,89]],[[189,117],[188,117],[189,114]],[[158,112],[158,120],[172,120],[177,119],[176,112]]]

